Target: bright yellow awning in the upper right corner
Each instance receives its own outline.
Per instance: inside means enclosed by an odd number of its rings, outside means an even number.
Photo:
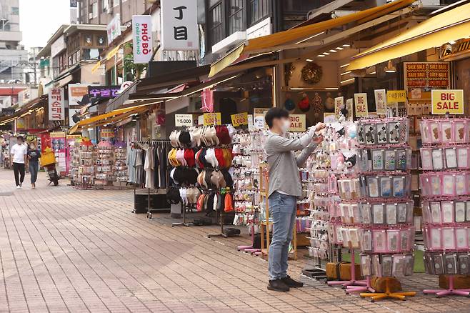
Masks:
[[[373,46],[351,58],[348,70],[364,69],[384,61],[441,46],[469,36],[470,4],[451,9]]]

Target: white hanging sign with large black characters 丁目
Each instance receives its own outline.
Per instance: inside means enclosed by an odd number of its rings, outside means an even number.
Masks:
[[[161,0],[161,49],[199,50],[197,0]]]

